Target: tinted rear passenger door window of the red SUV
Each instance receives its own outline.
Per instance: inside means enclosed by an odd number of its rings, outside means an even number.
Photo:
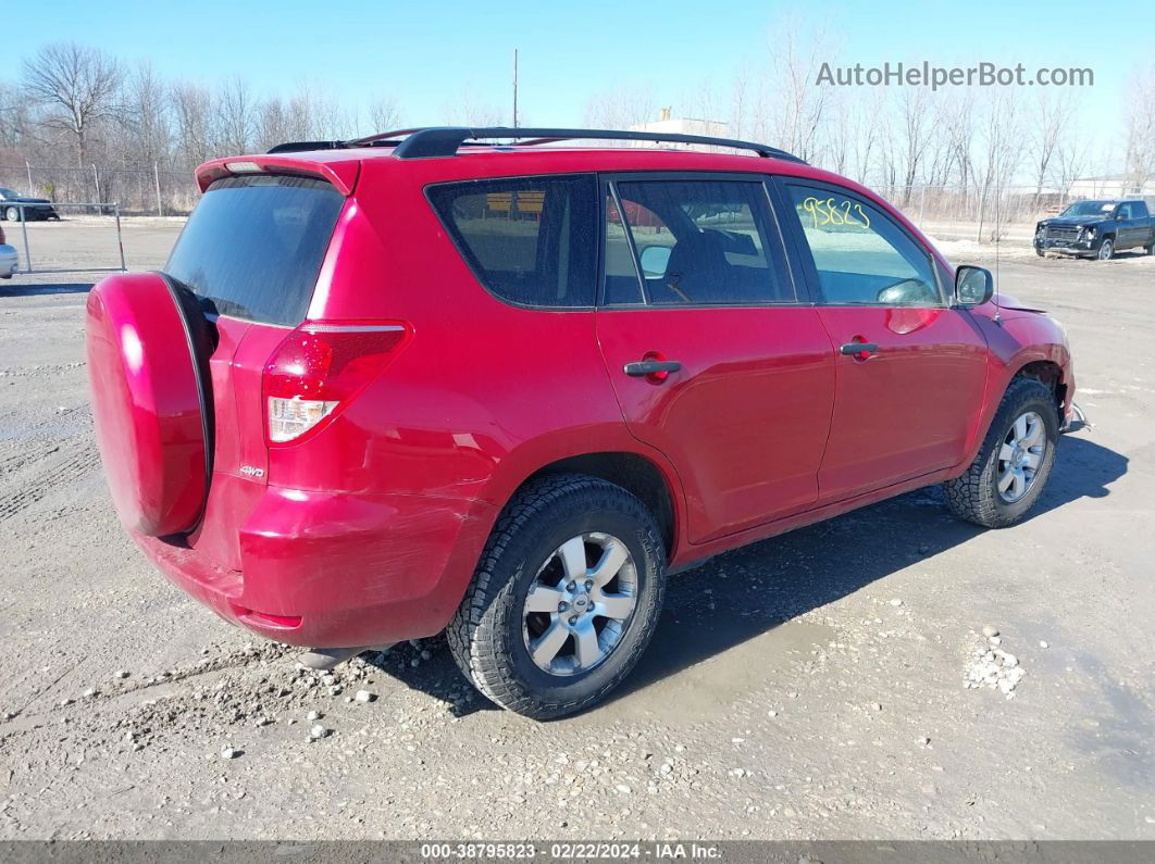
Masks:
[[[649,303],[795,301],[769,254],[773,217],[761,182],[628,180],[617,189]]]

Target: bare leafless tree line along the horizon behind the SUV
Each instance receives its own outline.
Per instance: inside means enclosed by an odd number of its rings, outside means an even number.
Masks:
[[[922,187],[962,191],[982,212],[1011,187],[1037,198],[1089,171],[1125,171],[1137,186],[1155,179],[1155,68],[1137,70],[1119,92],[819,85],[832,53],[821,36],[788,28],[765,61],[745,63],[728,85],[683,93],[676,114],[724,121],[730,137],[781,146],[884,189],[901,206]],[[1118,103],[1123,142],[1088,137],[1078,121],[1090,98]],[[623,85],[593,95],[584,120],[627,128],[653,121],[658,110],[651,88]],[[505,120],[469,91],[442,114],[467,125]],[[240,77],[214,87],[166,81],[149,63],[127,66],[74,43],[46,45],[23,61],[16,81],[0,82],[0,185],[30,179],[30,191],[61,200],[180,211],[195,197],[192,170],[207,159],[401,125],[390,95],[353,110],[310,87],[259,96]],[[1124,164],[1105,163],[1104,153]],[[25,178],[17,172],[27,166],[36,170]]]

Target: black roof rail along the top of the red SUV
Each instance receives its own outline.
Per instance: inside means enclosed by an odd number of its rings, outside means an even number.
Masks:
[[[300,150],[331,150],[358,146],[392,146],[398,159],[425,159],[438,156],[454,156],[457,148],[467,142],[490,143],[486,140],[511,138],[514,146],[532,146],[557,141],[643,141],[658,144],[705,144],[726,146],[736,150],[752,150],[765,158],[787,159],[803,163],[797,156],[767,144],[735,138],[715,138],[707,135],[681,135],[666,132],[626,132],[623,129],[553,129],[511,128],[490,126],[470,128],[465,126],[429,126],[417,129],[382,132],[352,141],[303,141],[278,144],[270,153]],[[803,163],[805,164],[805,163]]]

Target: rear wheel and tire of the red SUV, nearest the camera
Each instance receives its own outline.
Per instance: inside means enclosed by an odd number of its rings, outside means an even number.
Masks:
[[[551,720],[625,679],[664,589],[665,547],[641,501],[596,478],[544,476],[498,518],[446,634],[484,696]]]

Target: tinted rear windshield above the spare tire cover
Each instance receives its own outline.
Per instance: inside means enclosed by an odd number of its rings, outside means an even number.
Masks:
[[[208,311],[296,326],[308,311],[343,204],[321,180],[217,180],[188,218],[165,272]]]

